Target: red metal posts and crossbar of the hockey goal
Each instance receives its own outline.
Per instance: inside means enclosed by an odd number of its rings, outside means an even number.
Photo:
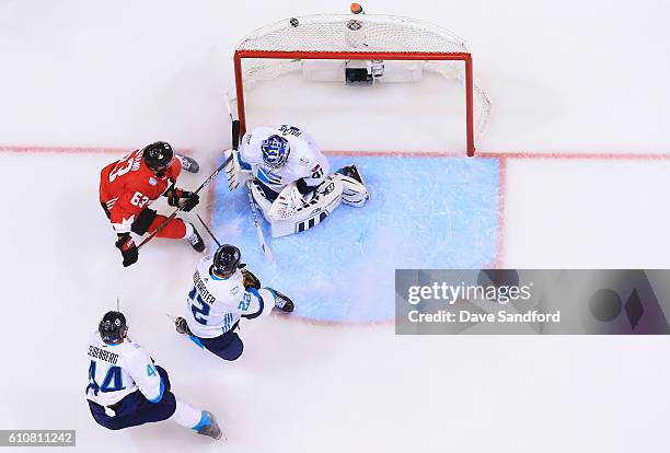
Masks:
[[[310,59],[310,60],[449,60],[463,61],[465,65],[465,137],[467,155],[475,153],[474,144],[474,82],[472,69],[472,55],[470,53],[394,53],[394,51],[303,51],[303,50],[235,50],[233,65],[235,71],[235,94],[238,103],[238,117],[240,119],[240,133],[246,131],[246,111],[244,108],[244,78],[242,60],[244,58],[258,59]]]

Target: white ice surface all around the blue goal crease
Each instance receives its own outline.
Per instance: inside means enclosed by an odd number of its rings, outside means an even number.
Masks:
[[[494,103],[481,151],[670,149],[668,2],[365,5],[429,20],[471,44]],[[0,146],[164,139],[211,162],[230,143],[221,93],[235,43],[277,19],[346,7],[4,0]],[[438,114],[452,107],[435,101],[434,82],[418,89],[424,97],[386,96],[384,113],[365,115],[316,98],[315,111],[305,109],[299,103],[309,95],[291,108],[268,89],[252,101],[258,120],[284,106],[325,148],[442,149]],[[369,123],[360,129],[351,115]],[[447,130],[455,121],[444,120],[450,150],[459,146],[459,131]],[[200,353],[164,316],[181,310],[197,255],[163,242],[142,249],[131,269],[118,265],[96,193],[99,170],[114,156],[0,153],[0,428],[77,429],[86,452],[667,450],[666,338],[413,338],[391,326],[270,318],[245,325],[239,363]],[[668,164],[524,160],[508,169],[505,264],[670,267]],[[175,393],[219,415],[227,446],[170,422],[122,432],[93,422],[83,399],[85,340],[116,295],[132,338],[165,365]]]

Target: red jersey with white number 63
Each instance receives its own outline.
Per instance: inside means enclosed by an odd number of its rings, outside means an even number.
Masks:
[[[174,158],[163,177],[147,166],[141,150],[135,150],[100,173],[100,202],[106,205],[116,233],[130,232],[141,210],[158,199],[177,179],[182,163]]]

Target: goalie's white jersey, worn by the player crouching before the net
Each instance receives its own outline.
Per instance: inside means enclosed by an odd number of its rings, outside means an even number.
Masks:
[[[272,136],[284,137],[289,142],[289,155],[279,169],[263,163],[263,140]],[[319,186],[328,175],[328,160],[307,131],[291,125],[261,126],[242,137],[240,165],[252,171],[254,177],[267,187],[279,193],[288,184],[304,178],[308,186]]]

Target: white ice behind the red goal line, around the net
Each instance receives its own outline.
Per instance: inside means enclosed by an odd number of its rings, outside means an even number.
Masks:
[[[495,106],[483,151],[668,148],[666,1],[376,0],[365,7],[435,22],[469,42]],[[231,86],[235,44],[279,19],[346,9],[332,0],[5,0],[2,141],[129,147],[161,137],[218,148],[228,140],[220,95]],[[432,88],[427,94],[439,98]],[[409,116],[420,108],[405,108],[407,101],[396,98],[390,116],[420,123]],[[327,131],[319,115],[301,111],[305,126]]]

